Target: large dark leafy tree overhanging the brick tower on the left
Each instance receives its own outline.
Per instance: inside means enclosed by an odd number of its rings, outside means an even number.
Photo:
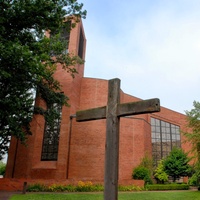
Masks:
[[[66,44],[60,40],[63,27],[69,32],[86,16],[82,7],[77,0],[0,1],[0,159],[11,136],[26,142],[33,113],[44,117],[58,114],[53,109],[47,113],[34,108],[33,91],[47,105],[68,105],[53,74],[60,63],[74,76],[73,66],[83,62],[78,56],[65,54]],[[67,23],[72,17],[75,23]],[[46,30],[54,33],[53,37],[46,37]]]

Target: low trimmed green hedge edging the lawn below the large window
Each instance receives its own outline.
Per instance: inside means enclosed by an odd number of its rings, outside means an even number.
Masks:
[[[155,185],[146,185],[147,190],[188,190],[189,185],[187,184],[155,184]]]

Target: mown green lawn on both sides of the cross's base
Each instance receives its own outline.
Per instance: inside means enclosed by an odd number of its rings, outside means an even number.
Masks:
[[[103,193],[27,193],[13,195],[10,200],[103,200]],[[120,192],[119,200],[199,200],[198,191]]]

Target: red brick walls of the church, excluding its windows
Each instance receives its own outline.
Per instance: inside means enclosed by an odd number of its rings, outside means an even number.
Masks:
[[[77,26],[70,36],[70,52],[77,53],[79,29],[80,26]],[[70,115],[80,109],[105,106],[108,81],[83,78],[84,65],[76,68],[79,73],[74,79],[60,66],[55,73],[55,78],[62,84],[63,92],[70,98],[70,107],[62,109],[58,160],[41,161],[44,119],[36,115],[31,124],[33,135],[28,138],[27,147],[18,143],[16,151],[17,141],[12,138],[6,170],[7,178],[103,181],[106,121],[76,122],[75,118],[70,121]],[[125,103],[140,99],[121,91],[120,100]],[[40,99],[36,103],[45,106]],[[163,107],[159,113],[121,118],[120,181],[130,180],[133,168],[141,162],[145,154],[151,156],[151,116],[176,124],[181,129],[184,129],[186,124],[184,115]],[[188,144],[182,144],[182,147],[186,150],[190,148]]]

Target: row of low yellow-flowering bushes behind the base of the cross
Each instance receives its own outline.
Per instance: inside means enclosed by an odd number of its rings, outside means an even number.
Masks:
[[[138,186],[119,186],[119,191],[142,191],[143,188]],[[27,192],[99,192],[103,191],[104,187],[101,184],[93,184],[92,182],[79,181],[77,185],[60,185],[53,184],[50,186],[43,184],[28,185]]]

